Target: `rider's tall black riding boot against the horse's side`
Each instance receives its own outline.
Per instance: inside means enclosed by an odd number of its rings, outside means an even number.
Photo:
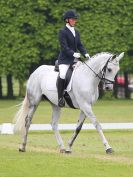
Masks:
[[[64,100],[64,86],[65,86],[65,79],[58,78],[57,90],[58,90],[58,106],[64,107],[65,100]]]

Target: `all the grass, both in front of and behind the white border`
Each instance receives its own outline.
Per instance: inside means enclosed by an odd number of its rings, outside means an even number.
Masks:
[[[0,101],[0,124],[11,122],[20,101]],[[99,101],[94,113],[100,122],[132,122],[133,102]],[[61,123],[75,123],[77,110],[65,109]],[[33,123],[49,123],[51,109],[41,103]],[[88,121],[86,121],[88,122]],[[133,131],[104,131],[115,150],[106,155],[96,131],[81,131],[71,155],[60,154],[52,131],[30,132],[27,152],[19,153],[18,135],[0,135],[0,177],[131,177],[133,176]],[[62,131],[65,144],[71,131]]]

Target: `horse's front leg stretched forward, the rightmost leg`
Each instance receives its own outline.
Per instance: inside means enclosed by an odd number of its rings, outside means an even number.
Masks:
[[[103,134],[103,130],[102,130],[102,127],[101,125],[99,124],[99,122],[96,120],[96,117],[95,115],[93,114],[92,112],[92,108],[91,108],[91,105],[87,105],[83,108],[83,111],[85,113],[85,115],[91,120],[91,122],[93,123],[94,127],[97,129],[99,135],[100,135],[100,138],[104,144],[104,147],[105,147],[105,150],[106,150],[106,153],[112,153],[113,152],[113,149],[111,148],[111,146],[109,145],[107,139],[105,138],[104,134]]]

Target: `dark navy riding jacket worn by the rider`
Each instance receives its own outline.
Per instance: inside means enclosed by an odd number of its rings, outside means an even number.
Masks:
[[[80,51],[85,56],[86,49],[80,41],[79,32],[75,30],[75,37],[72,32],[65,26],[59,31],[60,54],[58,64],[72,64],[74,61],[73,54]]]

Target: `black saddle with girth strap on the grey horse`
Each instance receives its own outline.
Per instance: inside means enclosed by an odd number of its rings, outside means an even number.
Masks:
[[[65,78],[65,89],[67,88],[70,80],[71,80],[71,77],[72,77],[72,73],[73,73],[73,70],[74,70],[74,67],[75,67],[75,64],[76,62],[74,62],[72,65],[70,65],[70,67],[68,68],[68,71],[66,73],[66,78]],[[55,62],[55,69],[54,69],[56,72],[59,72],[59,65],[58,65],[58,60],[56,60]],[[59,77],[59,75],[58,75]],[[56,82],[56,85],[58,84],[58,77],[57,77],[57,82]],[[67,104],[73,108],[73,109],[76,109],[72,103],[72,100],[71,100],[71,97],[69,96],[68,92],[65,91],[64,92],[64,98],[67,102]]]

